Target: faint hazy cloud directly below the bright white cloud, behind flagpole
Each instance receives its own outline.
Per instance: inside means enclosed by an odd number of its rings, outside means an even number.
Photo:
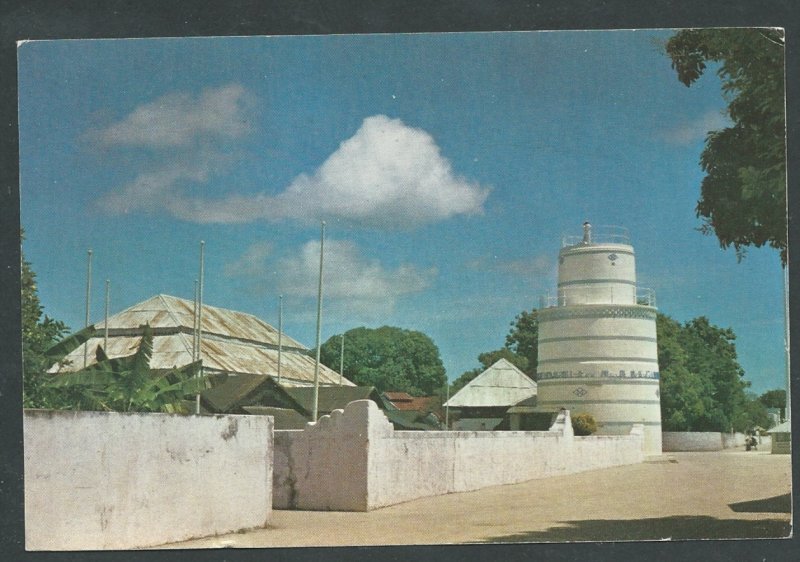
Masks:
[[[319,251],[319,241],[313,240],[297,251],[270,259],[272,246],[257,243],[226,265],[225,272],[229,277],[274,287],[285,295],[316,299]],[[325,241],[323,272],[326,302],[339,310],[373,314],[393,310],[399,297],[425,290],[437,275],[436,269],[420,270],[410,264],[387,269],[379,260],[364,257],[358,246],[347,240]]]

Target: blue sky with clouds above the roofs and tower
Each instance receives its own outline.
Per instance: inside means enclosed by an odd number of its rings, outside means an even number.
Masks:
[[[697,232],[711,73],[669,31],[42,41],[20,46],[24,252],[45,312],[92,321],[157,293],[255,314],[313,346],[421,330],[448,376],[554,292],[563,234],[629,229],[662,312],[736,332],[752,390],[783,387],[783,272]]]

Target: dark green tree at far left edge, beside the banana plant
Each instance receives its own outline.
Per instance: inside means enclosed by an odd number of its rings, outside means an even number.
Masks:
[[[31,264],[21,262],[22,282],[22,405],[24,408],[59,408],[70,397],[54,392],[46,385],[47,369],[53,364],[47,350],[60,340],[69,329],[58,320],[43,315],[39,300],[36,274]]]

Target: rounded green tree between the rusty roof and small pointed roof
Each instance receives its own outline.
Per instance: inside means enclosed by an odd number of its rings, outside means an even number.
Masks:
[[[414,330],[393,326],[354,328],[344,334],[343,375],[358,385],[374,386],[379,392],[401,391],[432,395],[445,384],[439,348],[433,340]],[[341,335],[320,346],[320,362],[339,369]]]

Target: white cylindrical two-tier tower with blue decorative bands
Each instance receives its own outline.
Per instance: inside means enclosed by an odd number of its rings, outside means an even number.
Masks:
[[[558,295],[538,313],[538,405],[594,416],[600,434],[644,425],[645,454],[661,454],[655,297],[636,287],[627,231],[592,229],[565,237]]]

